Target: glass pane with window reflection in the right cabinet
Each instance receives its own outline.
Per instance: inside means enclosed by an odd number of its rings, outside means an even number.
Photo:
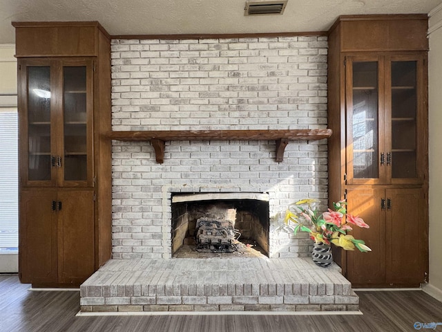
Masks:
[[[353,63],[353,177],[378,178],[378,63]]]

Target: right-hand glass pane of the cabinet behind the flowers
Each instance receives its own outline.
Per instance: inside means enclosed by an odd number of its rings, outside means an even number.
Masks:
[[[416,62],[392,62],[392,178],[415,178]]]

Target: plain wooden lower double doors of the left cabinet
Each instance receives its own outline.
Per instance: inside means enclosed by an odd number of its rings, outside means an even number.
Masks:
[[[77,286],[95,270],[93,190],[23,190],[21,282]]]

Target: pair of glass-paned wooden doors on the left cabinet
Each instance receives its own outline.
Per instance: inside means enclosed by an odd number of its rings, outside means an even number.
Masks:
[[[19,60],[23,185],[93,185],[93,60]]]

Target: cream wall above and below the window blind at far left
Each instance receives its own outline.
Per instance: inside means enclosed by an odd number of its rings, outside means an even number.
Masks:
[[[8,107],[8,111],[17,105],[17,59],[14,54],[15,45],[0,44],[0,107]],[[18,272],[18,261],[17,254],[0,254],[0,273]]]

